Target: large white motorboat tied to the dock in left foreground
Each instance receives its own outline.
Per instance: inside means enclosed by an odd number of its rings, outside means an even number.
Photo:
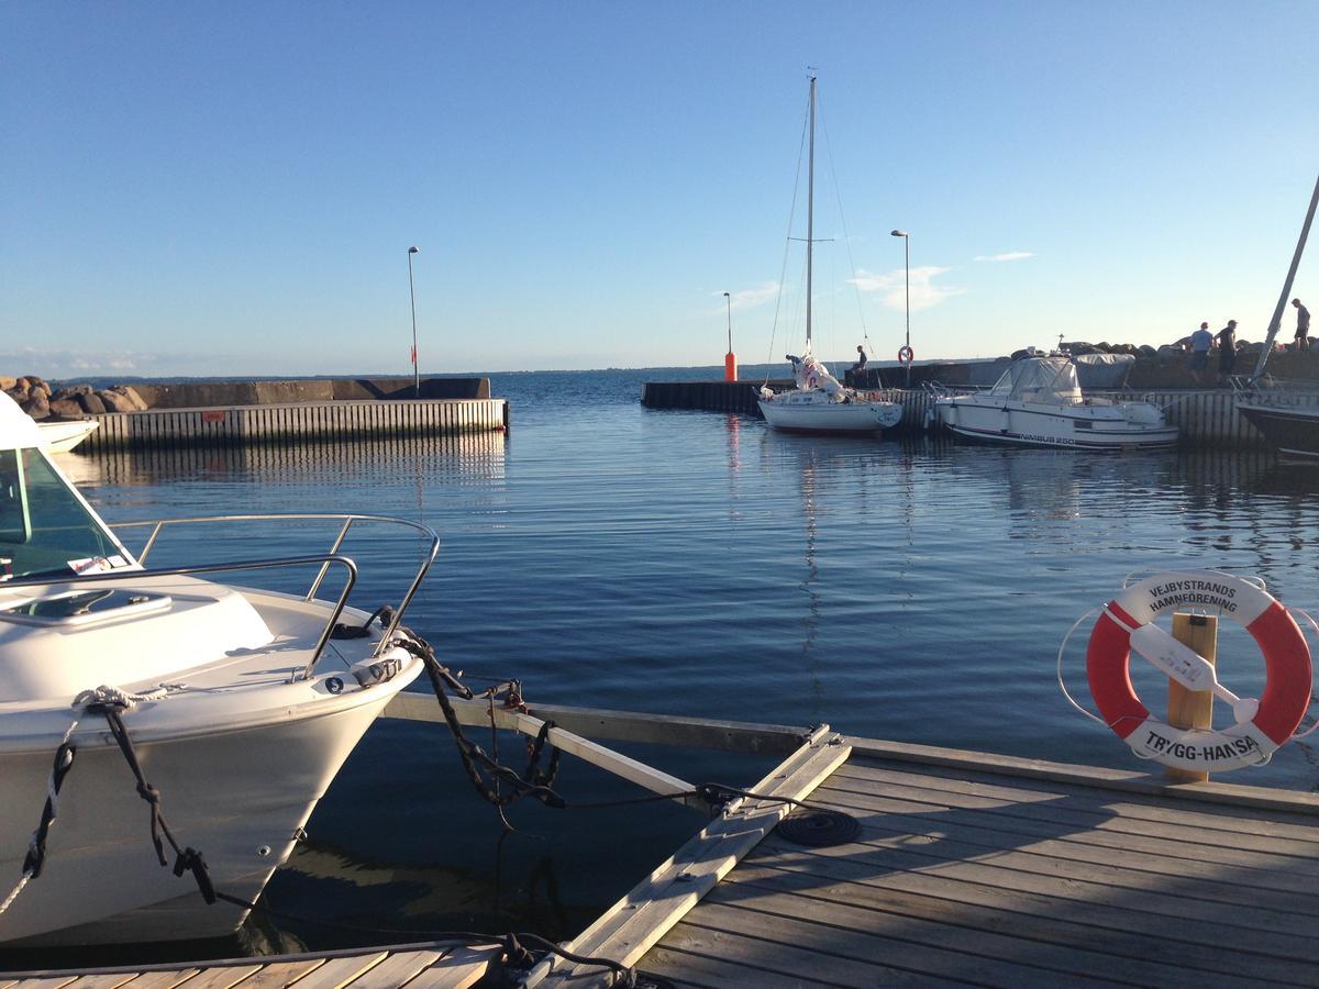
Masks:
[[[319,526],[330,549],[146,566],[185,524],[262,522],[281,541]],[[149,538],[135,558],[47,456],[36,423],[0,397],[7,945],[233,931],[357,740],[425,663],[398,625],[438,546],[425,526],[368,516],[142,525]],[[396,609],[368,616],[347,605],[357,566],[340,550],[350,530],[383,525],[408,526],[419,562],[400,571]],[[261,582],[256,574],[298,592],[228,580]],[[336,595],[318,596],[340,576]],[[162,851],[157,832],[169,839]],[[199,891],[207,884],[216,902]]]

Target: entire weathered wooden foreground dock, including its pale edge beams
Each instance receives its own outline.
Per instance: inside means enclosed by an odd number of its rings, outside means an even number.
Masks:
[[[488,724],[484,702],[455,704],[464,724]],[[429,721],[433,708],[400,695],[388,713]],[[565,752],[656,789],[663,774],[574,733],[787,753],[754,796],[725,807],[563,945],[677,986],[1319,984],[1315,794],[1171,786],[827,727],[536,705],[496,719],[522,733],[550,719]],[[856,831],[842,844],[795,844],[776,828],[787,811],[778,798],[840,812]],[[405,945],[9,973],[0,989],[466,986],[497,956]],[[599,967],[554,956],[505,974],[526,988],[611,984]]]

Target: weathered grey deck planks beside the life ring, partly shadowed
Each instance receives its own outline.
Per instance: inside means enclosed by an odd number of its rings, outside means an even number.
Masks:
[[[770,835],[642,969],[703,986],[1319,982],[1312,795],[853,744],[810,803],[857,818],[856,841]]]

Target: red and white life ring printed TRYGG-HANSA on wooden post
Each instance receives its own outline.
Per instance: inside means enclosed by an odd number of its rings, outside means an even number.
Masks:
[[[1258,702],[1216,687],[1237,719],[1223,731],[1173,728],[1150,715],[1132,686],[1136,649],[1191,690],[1215,688],[1213,667],[1153,624],[1187,605],[1229,616],[1264,651],[1268,679]],[[1217,571],[1158,574],[1122,591],[1089,633],[1086,675],[1108,727],[1141,758],[1177,769],[1223,771],[1268,762],[1310,707],[1310,646],[1295,620],[1261,587]]]

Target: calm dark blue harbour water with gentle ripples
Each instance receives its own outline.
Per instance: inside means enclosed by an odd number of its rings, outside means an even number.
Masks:
[[[1055,675],[1071,626],[1128,575],[1223,568],[1319,611],[1314,469],[1268,456],[802,438],[749,417],[640,406],[645,380],[675,373],[495,375],[495,393],[512,402],[506,436],[65,462],[116,522],[291,510],[425,521],[443,542],[408,624],[474,686],[516,676],[545,703],[827,721],[1137,767],[1067,704]],[[273,551],[197,538],[162,546],[157,562]],[[350,551],[392,555],[396,579],[410,559],[371,539]],[[385,600],[376,587],[368,575],[356,603]],[[1092,621],[1063,651],[1083,702]],[[1258,691],[1257,650],[1221,628],[1224,680]],[[1153,676],[1138,687],[1158,696]],[[518,746],[504,746],[520,765]],[[745,786],[769,767],[628,750],[691,781]],[[1312,790],[1319,760],[1294,742],[1232,779]],[[576,802],[633,793],[568,760],[558,789]],[[441,727],[380,721],[270,885],[281,916],[255,927],[276,945],[313,948],[446,930],[563,938],[700,825],[670,806],[518,803],[508,819],[512,832],[471,791]]]

